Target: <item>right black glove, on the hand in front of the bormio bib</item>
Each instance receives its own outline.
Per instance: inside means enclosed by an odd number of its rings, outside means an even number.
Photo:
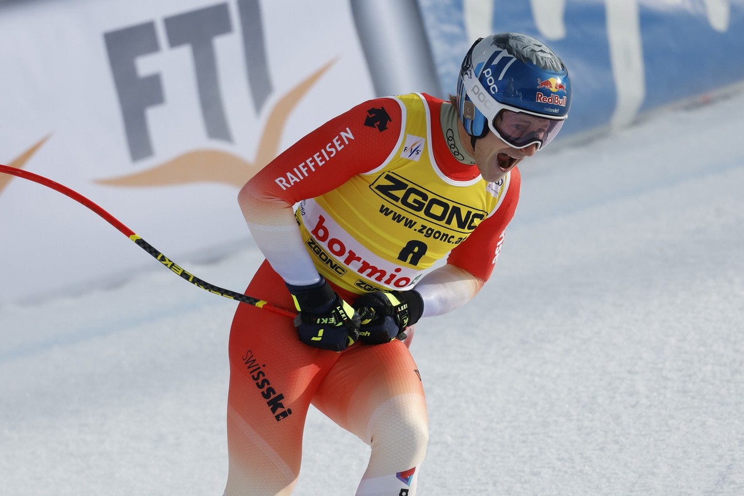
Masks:
[[[414,289],[363,294],[353,307],[362,315],[359,339],[367,344],[405,339],[405,328],[417,323],[423,314],[423,300]]]

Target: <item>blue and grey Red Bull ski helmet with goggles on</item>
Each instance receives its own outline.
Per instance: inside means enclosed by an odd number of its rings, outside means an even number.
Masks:
[[[555,138],[571,108],[571,80],[562,60],[542,42],[521,33],[498,33],[473,43],[458,77],[458,115],[466,132],[489,129],[515,148]],[[516,113],[517,115],[515,115]],[[510,126],[509,119],[530,122]]]

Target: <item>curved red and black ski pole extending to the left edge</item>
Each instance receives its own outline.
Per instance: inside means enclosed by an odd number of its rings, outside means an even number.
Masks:
[[[110,213],[106,212],[106,210],[103,210],[102,207],[95,204],[90,199],[86,198],[80,193],[77,193],[77,191],[71,190],[70,188],[66,187],[63,184],[60,184],[56,181],[52,181],[49,178],[45,178],[43,175],[34,174],[31,172],[28,172],[28,170],[22,170],[16,167],[8,167],[7,165],[3,165],[3,164],[0,164],[0,173],[16,175],[19,178],[28,179],[29,181],[33,181],[33,182],[42,184],[46,187],[50,187],[52,190],[58,191],[64,194],[65,196],[68,196],[71,199],[74,199],[76,202],[85,205],[90,210],[93,210],[94,213],[97,213],[98,216],[106,220],[106,222],[109,222],[109,224],[117,228],[118,231],[121,231],[121,233],[123,233],[124,236],[128,237],[133,242],[135,242],[135,245],[138,245],[144,251],[147,251],[147,253],[155,257],[155,260],[158,260],[158,262],[163,264],[165,267],[169,268],[170,271],[173,271],[174,274],[178,274],[180,277],[182,277],[182,279],[187,280],[189,283],[193,284],[194,286],[197,286],[201,289],[205,289],[206,291],[214,293],[214,294],[219,294],[219,296],[230,298],[231,300],[237,300],[237,301],[240,301],[241,303],[248,303],[248,305],[257,306],[260,309],[269,310],[269,312],[274,312],[275,314],[278,314],[278,315],[284,315],[285,317],[289,317],[289,318],[295,318],[297,316],[297,312],[295,312],[294,310],[285,309],[281,306],[276,306],[273,303],[269,303],[267,301],[260,300],[258,298],[254,298],[251,296],[246,296],[246,294],[243,294],[243,293],[238,293],[238,292],[231,291],[229,289],[220,288],[219,286],[214,286],[214,284],[210,284],[206,282],[205,280],[199,279],[199,277],[196,277],[190,272],[185,271],[184,268],[182,268],[180,265],[177,265],[176,263],[174,263],[173,260],[170,260],[164,254],[158,251],[153,245],[150,245],[150,243],[148,243],[147,241],[142,239],[140,236],[135,234],[134,231],[127,228],[126,225],[121,223],[118,219],[116,219]]]

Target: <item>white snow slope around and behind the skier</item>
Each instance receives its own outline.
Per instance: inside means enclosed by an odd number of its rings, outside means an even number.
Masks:
[[[743,108],[523,164],[494,277],[411,347],[420,495],[744,495]],[[240,291],[260,254],[177,262]],[[154,260],[122,286],[0,306],[0,494],[221,495],[235,306]],[[353,494],[366,445],[312,410],[305,447],[296,495]]]

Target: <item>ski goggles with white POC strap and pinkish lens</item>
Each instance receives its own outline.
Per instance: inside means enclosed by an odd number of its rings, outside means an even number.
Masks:
[[[542,149],[554,140],[567,117],[551,118],[499,103],[475,79],[472,70],[464,74],[463,83],[470,100],[486,117],[488,128],[514,148],[537,144],[537,149]]]

